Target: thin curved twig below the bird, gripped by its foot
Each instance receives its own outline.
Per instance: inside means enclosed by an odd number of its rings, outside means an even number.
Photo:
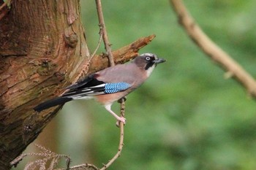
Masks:
[[[121,98],[121,117],[124,117],[124,112],[125,112],[125,102],[124,102],[124,98]],[[112,159],[110,159],[110,161],[108,161],[107,164],[105,164],[102,169],[100,170],[105,170],[108,169],[108,167],[114,162],[116,161],[116,159],[121,155],[121,151],[123,150],[124,147],[124,123],[120,122],[119,123],[119,128],[120,128],[120,139],[119,139],[119,144],[118,144],[118,151],[116,152],[116,155],[113,156]]]

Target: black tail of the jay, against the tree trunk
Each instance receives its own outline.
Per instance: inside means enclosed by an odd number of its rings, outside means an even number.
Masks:
[[[64,104],[67,101],[72,101],[72,98],[67,98],[67,97],[58,97],[58,98],[53,98],[49,101],[45,101],[42,104],[38,104],[37,107],[34,107],[34,110],[37,112],[41,112],[44,109],[48,109],[50,107],[55,107],[60,104]]]

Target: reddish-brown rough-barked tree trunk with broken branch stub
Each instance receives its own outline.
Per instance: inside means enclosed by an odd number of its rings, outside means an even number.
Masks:
[[[116,63],[134,58],[152,39],[154,35],[116,50]],[[12,1],[0,20],[0,169],[10,169],[10,161],[60,109],[37,114],[37,104],[61,94],[81,72],[108,66],[104,55],[89,64],[89,55],[79,1]]]

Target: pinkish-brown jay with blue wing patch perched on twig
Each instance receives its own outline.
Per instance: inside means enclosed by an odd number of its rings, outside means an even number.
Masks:
[[[129,63],[111,66],[102,71],[95,72],[88,77],[69,85],[61,96],[45,101],[34,111],[41,112],[44,109],[62,105],[68,101],[76,99],[95,98],[111,115],[116,117],[118,123],[124,124],[126,119],[119,117],[111,110],[114,101],[124,98],[133,90],[145,82],[159,63],[164,63],[165,59],[158,58],[153,53],[143,53],[138,55]]]

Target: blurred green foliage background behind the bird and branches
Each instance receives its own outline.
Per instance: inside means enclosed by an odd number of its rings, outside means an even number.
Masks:
[[[93,51],[96,7],[91,0],[80,3]],[[184,3],[206,34],[255,77],[256,1]],[[110,169],[256,169],[255,101],[189,39],[169,1],[109,0],[102,7],[113,50],[156,34],[140,53],[167,59],[128,96],[124,150]],[[118,112],[118,104],[113,108]],[[116,153],[116,120],[94,101],[72,101],[57,118],[59,152],[69,154],[72,164],[101,166]]]

